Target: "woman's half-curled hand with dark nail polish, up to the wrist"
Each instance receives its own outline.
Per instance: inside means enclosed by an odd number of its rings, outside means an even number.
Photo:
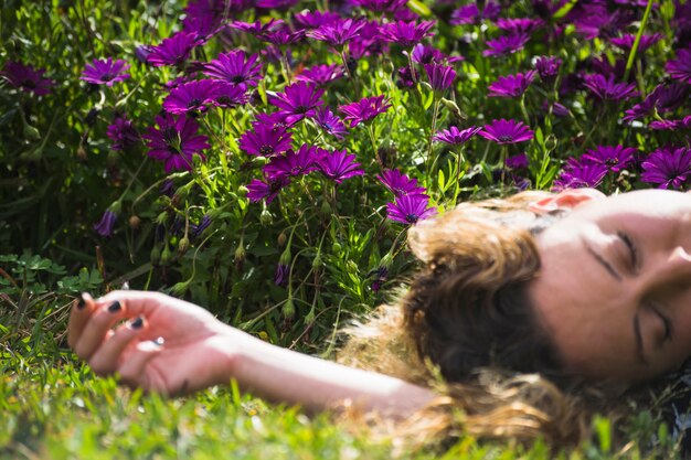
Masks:
[[[245,335],[201,307],[142,291],[84,295],[68,328],[70,346],[96,374],[166,395],[228,383]]]

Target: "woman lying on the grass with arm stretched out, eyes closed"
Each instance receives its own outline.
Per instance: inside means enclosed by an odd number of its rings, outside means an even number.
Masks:
[[[348,400],[448,434],[459,407],[476,435],[560,443],[584,436],[580,406],[691,354],[691,195],[523,193],[423,222],[410,245],[423,269],[398,306],[351,331],[343,364],[153,292],[85,295],[68,342],[97,374],[169,395],[234,378],[310,410]]]

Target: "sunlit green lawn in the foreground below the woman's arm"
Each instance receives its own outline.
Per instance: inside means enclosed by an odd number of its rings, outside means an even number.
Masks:
[[[28,296],[29,297],[29,296]],[[460,439],[448,450],[395,449],[362,427],[312,417],[241,395],[232,384],[166,399],[95,376],[64,347],[67,298],[0,310],[0,459],[615,459],[676,458],[678,447],[651,411],[627,420],[631,442],[613,446],[615,427],[594,421],[592,441],[568,452]],[[9,306],[10,299],[3,299]],[[649,440],[657,435],[656,445]]]

